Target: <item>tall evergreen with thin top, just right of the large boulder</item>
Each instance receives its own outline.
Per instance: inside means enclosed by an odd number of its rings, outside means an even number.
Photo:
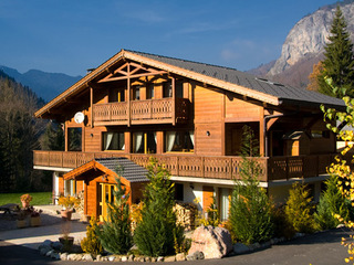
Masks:
[[[230,224],[233,236],[246,244],[271,239],[274,232],[272,203],[264,189],[259,187],[261,168],[247,156],[258,156],[258,141],[250,127],[243,127],[240,163],[241,181],[236,180],[231,197]]]

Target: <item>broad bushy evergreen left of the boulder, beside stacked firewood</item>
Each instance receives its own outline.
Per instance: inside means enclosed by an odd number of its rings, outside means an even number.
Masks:
[[[148,256],[165,256],[175,252],[183,241],[183,229],[176,224],[175,187],[169,172],[150,159],[145,188],[142,220],[137,223],[134,241],[138,250]]]

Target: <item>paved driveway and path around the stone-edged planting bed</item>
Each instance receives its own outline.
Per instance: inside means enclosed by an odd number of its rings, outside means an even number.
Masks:
[[[73,222],[72,229],[75,236],[84,235],[84,225],[80,222]],[[77,262],[52,261],[39,255],[38,244],[45,239],[58,239],[61,233],[60,224],[29,227],[22,230],[1,231],[0,232],[0,264],[4,265],[34,265],[34,264],[79,264]],[[326,232],[299,237],[279,245],[273,245],[266,250],[254,253],[227,257],[222,259],[209,259],[197,262],[180,262],[178,264],[192,265],[217,265],[217,264],[237,264],[237,265],[288,265],[288,264],[346,264],[346,248],[341,246],[342,236],[347,237],[347,232],[337,229]],[[97,265],[110,264],[98,262],[84,262],[83,264]],[[112,263],[118,264],[118,263]],[[121,263],[123,264],[123,263]],[[128,263],[142,264],[142,263]],[[147,264],[147,263],[146,263]]]

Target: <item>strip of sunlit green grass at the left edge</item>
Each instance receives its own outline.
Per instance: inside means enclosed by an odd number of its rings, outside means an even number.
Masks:
[[[18,203],[21,206],[20,197],[24,193],[0,193],[0,205],[7,203]],[[52,202],[52,192],[30,192],[33,199],[31,205],[45,205]]]

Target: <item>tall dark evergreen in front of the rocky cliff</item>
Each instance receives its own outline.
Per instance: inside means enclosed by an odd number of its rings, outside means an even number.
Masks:
[[[323,71],[319,75],[320,92],[330,96],[342,98],[343,89],[333,87],[346,88],[345,94],[354,96],[354,56],[353,43],[350,40],[347,24],[342,14],[340,6],[331,26],[331,35],[326,44],[323,61]],[[325,82],[325,77],[332,78],[333,86]]]

